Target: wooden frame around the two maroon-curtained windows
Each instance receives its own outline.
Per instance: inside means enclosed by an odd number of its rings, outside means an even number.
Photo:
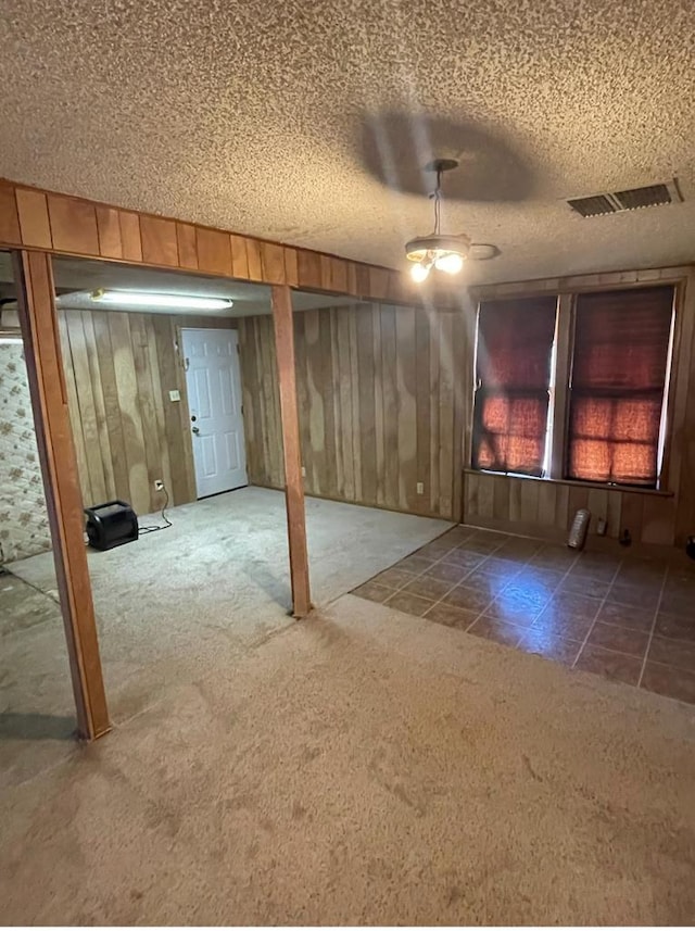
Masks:
[[[529,298],[547,298],[552,294],[557,297],[556,332],[555,332],[555,368],[552,373],[549,394],[551,429],[547,433],[547,442],[551,444],[548,471],[544,476],[527,476],[516,473],[496,473],[491,469],[477,468],[473,465],[473,438],[470,441],[470,454],[467,456],[468,468],[473,473],[482,475],[498,475],[509,478],[531,479],[534,481],[554,481],[564,485],[580,486],[586,489],[612,489],[623,492],[636,492],[646,494],[672,494],[672,489],[678,485],[672,475],[673,467],[673,437],[678,433],[679,424],[675,423],[675,401],[679,394],[681,379],[679,379],[679,362],[682,343],[683,329],[683,305],[685,289],[691,268],[675,269],[652,269],[647,273],[608,273],[606,275],[580,276],[586,280],[571,279],[563,287],[561,279],[548,282],[555,288],[543,287],[543,282],[519,284],[517,286],[488,286],[476,289],[476,342],[475,355],[478,351],[478,319],[480,306],[491,300],[518,300]],[[639,275],[644,275],[642,280],[634,280]],[[633,280],[624,280],[631,276]],[[601,280],[605,278],[606,280]],[[598,280],[596,280],[598,279]],[[621,280],[622,279],[622,280]],[[577,299],[580,294],[597,293],[603,291],[628,291],[641,290],[654,287],[673,288],[673,324],[669,343],[669,355],[667,363],[666,380],[664,388],[664,435],[659,448],[662,450],[660,468],[657,475],[656,487],[631,486],[619,482],[590,481],[586,479],[567,478],[567,461],[569,449],[569,412],[571,394],[571,369],[574,353],[574,327],[577,322]],[[502,291],[502,292],[501,292]],[[471,393],[471,424],[475,424],[475,385],[476,366],[473,364],[473,385]]]

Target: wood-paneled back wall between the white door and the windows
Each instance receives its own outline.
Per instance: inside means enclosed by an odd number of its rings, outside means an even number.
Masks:
[[[458,519],[463,315],[331,307],[295,314],[294,332],[306,492]],[[239,334],[249,475],[281,487],[271,322],[241,319]]]

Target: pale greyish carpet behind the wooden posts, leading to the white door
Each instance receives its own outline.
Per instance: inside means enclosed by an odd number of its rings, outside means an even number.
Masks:
[[[169,683],[215,675],[220,656],[233,664],[292,622],[282,493],[244,488],[169,516],[167,530],[88,551],[114,725],[159,702]],[[306,521],[317,605],[451,527],[317,499],[306,500]],[[50,597],[58,594],[53,556],[10,569],[0,586],[0,790],[63,759],[75,727],[63,625]]]

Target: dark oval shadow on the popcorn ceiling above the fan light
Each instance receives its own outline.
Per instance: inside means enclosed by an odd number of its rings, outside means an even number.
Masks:
[[[467,122],[427,114],[367,114],[362,127],[367,171],[393,190],[427,196],[434,177],[425,166],[456,159],[443,183],[446,200],[520,201],[533,188],[530,165],[500,136]]]

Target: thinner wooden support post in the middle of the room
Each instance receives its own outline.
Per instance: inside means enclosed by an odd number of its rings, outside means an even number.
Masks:
[[[292,614],[305,617],[312,609],[308,587],[308,554],[306,550],[306,517],[300,449],[300,420],[296,406],[294,374],[294,329],[292,294],[287,285],[271,290],[275,352],[280,385],[280,415],[285,453],[285,498],[290,541],[290,577],[292,579]]]

